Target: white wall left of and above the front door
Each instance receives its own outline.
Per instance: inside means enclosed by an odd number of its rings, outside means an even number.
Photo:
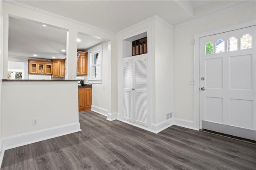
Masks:
[[[255,1],[220,14],[209,16],[174,28],[174,116],[194,122],[194,34],[232,26],[256,18]],[[196,42],[198,43],[198,42]]]

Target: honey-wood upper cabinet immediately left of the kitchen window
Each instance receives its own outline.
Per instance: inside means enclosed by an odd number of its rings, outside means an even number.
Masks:
[[[76,75],[87,75],[87,52],[77,51]]]

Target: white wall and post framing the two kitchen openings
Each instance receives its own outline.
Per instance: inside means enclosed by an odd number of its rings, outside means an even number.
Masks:
[[[12,3],[12,2],[10,2]],[[15,3],[15,2],[14,2]],[[97,29],[95,27],[90,27],[87,24],[81,24],[78,22],[72,22],[70,20],[62,19],[59,17],[55,17],[54,14],[50,13],[42,13],[33,9],[22,8],[16,5],[8,4],[4,2],[4,71],[7,71],[7,62],[8,62],[8,15],[19,16],[22,18],[34,20],[37,22],[42,22],[46,24],[50,24],[52,26],[57,26],[60,28],[65,28],[68,30],[68,49],[67,49],[67,65],[68,65],[68,79],[73,79],[72,75],[76,75],[76,53],[77,53],[77,34],[78,32],[83,34],[88,34],[91,36],[96,36],[103,38],[105,40],[110,40],[109,45],[111,49],[109,49],[109,63],[108,63],[108,77],[109,77],[109,91],[108,91],[108,112],[117,113],[117,58],[116,58],[116,35],[111,34],[109,32],[104,32],[102,29]],[[76,76],[74,76],[76,79]]]

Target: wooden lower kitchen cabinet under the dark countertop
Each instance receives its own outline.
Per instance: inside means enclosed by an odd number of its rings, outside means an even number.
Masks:
[[[92,88],[78,88],[78,110],[89,111],[92,107]]]

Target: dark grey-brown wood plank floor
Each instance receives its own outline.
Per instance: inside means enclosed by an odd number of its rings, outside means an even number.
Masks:
[[[256,145],[172,126],[158,134],[92,111],[81,132],[6,150],[1,170],[255,170]]]

